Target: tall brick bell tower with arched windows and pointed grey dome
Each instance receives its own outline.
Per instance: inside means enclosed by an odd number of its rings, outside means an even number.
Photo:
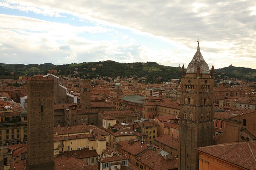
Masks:
[[[179,169],[199,168],[197,147],[213,145],[213,86],[214,69],[200,52],[199,42],[196,54],[187,67],[182,69],[181,112],[179,136]]]

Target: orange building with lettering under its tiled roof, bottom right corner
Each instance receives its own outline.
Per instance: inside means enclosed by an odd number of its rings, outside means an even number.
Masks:
[[[224,143],[196,148],[199,170],[256,169],[256,141]]]

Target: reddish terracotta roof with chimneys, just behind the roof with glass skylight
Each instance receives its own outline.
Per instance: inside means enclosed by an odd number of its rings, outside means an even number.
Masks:
[[[148,149],[149,143],[141,144],[141,141],[135,142],[134,140],[135,139],[120,141],[116,143],[119,144],[123,150],[127,151],[130,154],[133,154],[134,156],[137,156],[138,154],[142,153],[144,150]]]

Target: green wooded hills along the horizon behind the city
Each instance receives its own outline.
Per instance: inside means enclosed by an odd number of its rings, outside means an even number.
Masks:
[[[115,61],[88,62],[54,65],[52,63],[44,64],[5,64],[0,63],[0,78],[18,78],[18,76],[46,75],[49,70],[57,70],[61,75],[84,78],[96,77],[127,77],[146,78],[146,83],[157,83],[161,81],[169,82],[171,79],[181,77],[182,68],[164,66],[156,62],[147,63],[118,63]],[[11,72],[14,75],[11,75]],[[185,71],[186,72],[186,71]],[[249,79],[256,81],[256,70],[242,67],[225,67],[215,69],[217,75],[223,75],[229,78]]]

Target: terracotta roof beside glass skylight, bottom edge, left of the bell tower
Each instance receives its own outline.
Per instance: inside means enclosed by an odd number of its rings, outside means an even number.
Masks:
[[[140,156],[137,156],[136,160],[139,160],[153,170],[172,170],[178,168],[177,159],[171,158],[165,160],[162,155],[159,155],[160,152],[161,150],[149,149],[142,153]],[[154,162],[153,166],[152,162]]]

